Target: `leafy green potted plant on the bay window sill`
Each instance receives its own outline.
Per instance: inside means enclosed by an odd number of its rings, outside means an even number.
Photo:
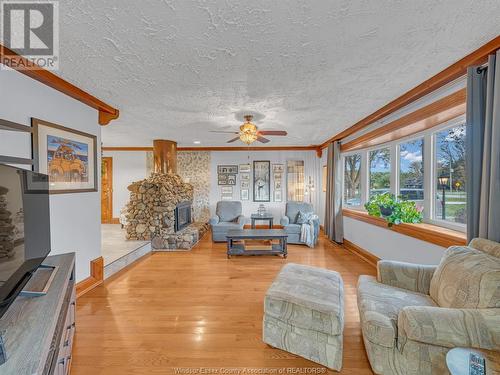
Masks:
[[[377,194],[370,198],[365,204],[368,214],[376,217],[383,217],[388,226],[401,223],[421,223],[422,210],[415,202],[407,201],[401,197],[395,197],[394,194]]]

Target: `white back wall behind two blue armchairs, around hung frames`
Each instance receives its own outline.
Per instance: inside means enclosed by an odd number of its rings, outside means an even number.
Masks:
[[[250,158],[249,158],[250,156]],[[214,151],[211,153],[211,173],[210,173],[210,212],[215,214],[215,207],[221,197],[221,187],[217,184],[217,165],[239,165],[239,164],[252,164],[254,160],[269,160],[272,164],[285,164],[287,160],[304,160],[305,179],[308,181],[309,176],[312,176],[316,190],[312,196],[312,202],[315,206],[316,212],[320,208],[320,194],[321,194],[321,167],[320,159],[316,156],[316,151]],[[250,174],[252,179],[253,175]],[[272,171],[271,171],[271,202],[262,202],[266,206],[269,213],[274,216],[274,223],[279,224],[280,218],[285,214],[285,201],[286,201],[286,176],[283,181],[283,202],[272,202]],[[252,185],[252,181],[250,181]],[[233,186],[233,199],[240,200],[240,174],[238,173],[236,186]],[[307,201],[308,198],[306,198]],[[252,213],[257,212],[257,208],[261,202],[253,202],[253,193],[250,188],[250,200],[242,201],[243,214],[248,218]],[[319,213],[318,213],[319,215]],[[322,216],[320,216],[322,218]],[[265,224],[264,222],[259,224]]]

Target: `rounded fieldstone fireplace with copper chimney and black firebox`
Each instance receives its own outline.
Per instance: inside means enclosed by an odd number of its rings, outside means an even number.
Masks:
[[[168,160],[176,158],[176,143],[155,141],[157,149],[155,172],[128,187],[127,239],[151,240],[153,250],[189,250],[208,224],[192,222],[193,186],[182,181],[176,163]]]

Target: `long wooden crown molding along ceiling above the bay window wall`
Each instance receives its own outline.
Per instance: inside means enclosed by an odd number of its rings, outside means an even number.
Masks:
[[[386,104],[379,110],[373,112],[372,114],[366,116],[362,120],[358,121],[351,127],[345,129],[344,131],[334,135],[325,142],[321,144],[321,148],[328,147],[333,141],[338,141],[349,135],[352,135],[361,129],[364,129],[368,125],[378,121],[387,115],[401,109],[408,104],[414,102],[417,99],[437,90],[438,88],[452,82],[453,80],[463,76],[467,72],[467,68],[472,65],[479,65],[486,62],[488,55],[500,49],[500,36],[490,40],[485,45],[479,47],[475,51],[471,52],[461,60],[450,65],[448,68],[442,70],[438,74],[429,78],[428,80],[422,82],[420,85],[414,87],[410,91],[401,95],[397,99],[394,99],[390,103]]]

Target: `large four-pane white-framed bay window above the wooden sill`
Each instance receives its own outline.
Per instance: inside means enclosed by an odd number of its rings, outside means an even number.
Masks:
[[[414,201],[424,222],[465,230],[467,186],[464,116],[378,148],[343,156],[343,205],[362,209],[392,193]]]

